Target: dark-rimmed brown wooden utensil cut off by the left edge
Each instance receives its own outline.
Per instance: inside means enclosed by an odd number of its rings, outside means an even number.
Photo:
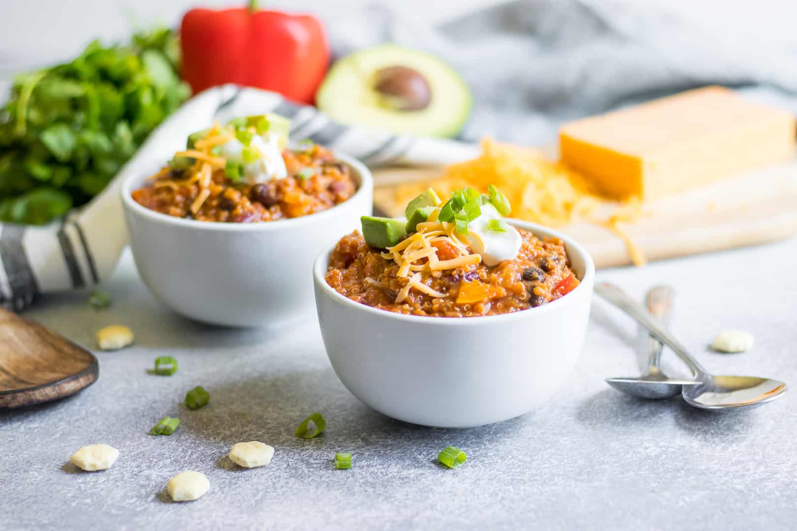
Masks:
[[[0,409],[64,398],[99,375],[94,354],[0,308]]]

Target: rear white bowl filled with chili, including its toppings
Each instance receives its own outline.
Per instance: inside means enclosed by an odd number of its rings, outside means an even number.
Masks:
[[[190,135],[152,174],[122,185],[143,282],[179,314],[224,326],[282,326],[312,311],[319,249],[371,212],[363,164],[313,143],[289,147],[288,120],[236,119]]]

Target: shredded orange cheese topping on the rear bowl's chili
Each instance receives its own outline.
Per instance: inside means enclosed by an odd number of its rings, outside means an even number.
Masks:
[[[175,153],[175,157],[194,159],[193,166],[190,166],[190,168],[186,170],[186,174],[188,174],[189,177],[182,180],[161,179],[163,175],[171,172],[171,170],[166,167],[151,177],[151,179],[156,179],[153,185],[155,188],[168,186],[176,190],[181,186],[190,186],[194,184],[194,182],[198,183],[199,193],[190,205],[191,213],[198,213],[199,209],[202,208],[202,204],[208,196],[210,196],[210,182],[213,178],[214,170],[223,170],[227,163],[226,158],[214,155],[212,150],[215,146],[220,146],[231,139],[234,139],[234,133],[231,127],[222,127],[218,122],[214,123],[214,126],[208,131],[206,137],[194,143],[194,149]]]

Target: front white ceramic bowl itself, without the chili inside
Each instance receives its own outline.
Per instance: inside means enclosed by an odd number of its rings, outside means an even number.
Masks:
[[[329,361],[363,403],[398,420],[470,428],[529,412],[567,380],[579,359],[595,264],[563,234],[524,221],[518,228],[558,236],[581,283],[561,299],[486,317],[395,314],[355,303],[324,280],[316,259],[316,306]]]

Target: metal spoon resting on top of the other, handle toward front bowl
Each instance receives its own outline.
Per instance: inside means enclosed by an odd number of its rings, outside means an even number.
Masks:
[[[684,346],[664,330],[656,318],[647,313],[644,306],[631,299],[619,287],[602,283],[595,285],[595,291],[645,326],[651,335],[673,349],[689,367],[699,383],[684,385],[681,389],[681,396],[687,404],[703,409],[745,408],[775,400],[786,392],[786,384],[782,381],[749,376],[713,376],[689,356]]]

